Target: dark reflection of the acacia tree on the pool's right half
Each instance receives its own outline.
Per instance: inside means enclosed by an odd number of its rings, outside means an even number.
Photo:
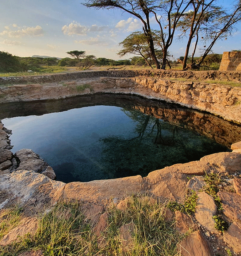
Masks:
[[[140,174],[175,163],[199,160],[226,148],[186,129],[147,116],[138,110],[122,109],[135,121],[133,138],[107,137],[103,142],[102,167],[107,178]],[[128,137],[128,135],[127,135]]]

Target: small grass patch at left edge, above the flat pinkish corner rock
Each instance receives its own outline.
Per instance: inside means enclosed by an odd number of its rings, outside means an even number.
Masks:
[[[16,205],[0,211],[0,240],[9,230],[16,227],[21,219],[23,208]]]

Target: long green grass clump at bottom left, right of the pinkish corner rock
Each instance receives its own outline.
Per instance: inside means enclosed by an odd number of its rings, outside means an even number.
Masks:
[[[85,255],[90,225],[84,221],[79,204],[57,204],[38,223],[35,235],[26,235],[21,241],[4,248],[1,256],[18,255],[24,251],[39,250],[43,255]],[[94,248],[94,243],[92,244]],[[2,251],[1,251],[2,249]]]

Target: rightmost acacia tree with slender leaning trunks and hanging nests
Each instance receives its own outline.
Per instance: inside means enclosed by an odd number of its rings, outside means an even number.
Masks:
[[[196,67],[200,67],[207,54],[211,51],[217,39],[226,38],[232,34],[235,29],[234,24],[241,19],[240,0],[231,12],[227,11],[215,4],[216,0],[195,0],[192,1],[192,11],[184,13],[178,24],[178,29],[181,30],[179,37],[184,37],[189,31],[185,56],[183,59],[183,69],[187,66],[187,59],[190,51],[191,41],[196,37],[194,50],[192,52],[192,64],[194,64],[194,54],[198,45],[199,38],[203,39],[205,45],[210,42],[210,45],[204,50],[204,54]]]

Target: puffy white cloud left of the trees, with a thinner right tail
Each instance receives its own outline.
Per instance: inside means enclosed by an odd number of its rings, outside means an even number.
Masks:
[[[92,26],[82,26],[78,22],[71,22],[68,26],[65,25],[62,27],[62,32],[65,35],[86,35],[87,32],[96,32],[96,31],[102,31],[104,30],[105,27],[99,27],[97,25],[92,25]]]

